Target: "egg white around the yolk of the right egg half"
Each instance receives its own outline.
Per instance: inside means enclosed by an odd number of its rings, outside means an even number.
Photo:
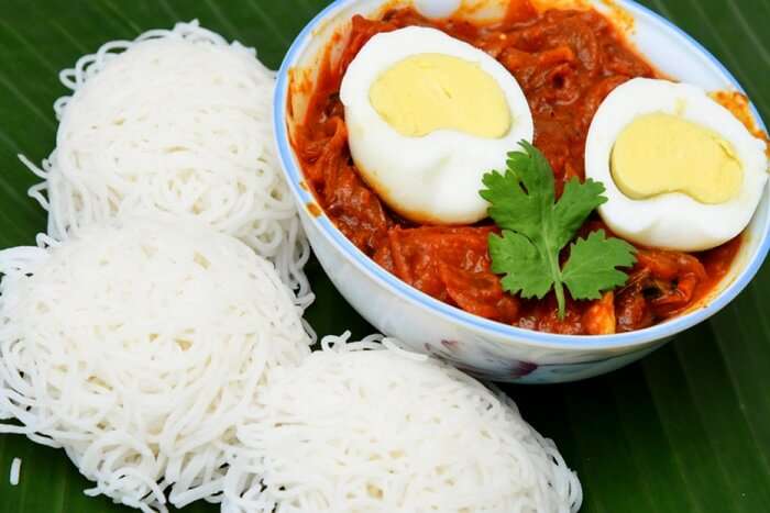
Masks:
[[[632,200],[616,186],[609,159],[623,130],[640,115],[663,112],[710,129],[733,144],[743,164],[740,192],[721,204],[705,204],[671,192]],[[604,183],[602,219],[617,235],[649,247],[697,252],[736,237],[751,221],[768,180],[765,142],[758,140],[705,90],[688,83],[632,79],[604,100],[588,130],[585,176]]]

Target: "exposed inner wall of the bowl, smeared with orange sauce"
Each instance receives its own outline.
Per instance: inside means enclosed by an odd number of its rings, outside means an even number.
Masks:
[[[626,0],[607,2],[606,0],[539,0],[535,2],[539,8],[574,7],[584,9],[593,7],[610,19],[616,21],[616,25],[636,46],[653,66],[661,73],[674,80],[685,81],[703,87],[708,91],[739,91],[743,92],[739,83],[729,71],[697,42],[692,40],[676,26],[647,10],[646,8]],[[285,122],[287,134],[290,137],[301,123],[307,108],[307,100],[318,75],[319,65],[324,57],[327,48],[331,47],[331,58],[333,59],[339,51],[344,47],[345,35],[350,26],[350,20],[354,14],[376,15],[383,10],[393,7],[413,5],[426,15],[430,13],[447,14],[453,9],[458,9],[460,14],[466,18],[474,18],[479,21],[495,21],[505,13],[507,0],[338,0],[308,25],[308,29],[300,34],[295,42],[293,49],[287,56],[284,68],[287,73],[286,98],[287,109],[280,109],[278,118],[284,118],[278,122]],[[331,44],[331,46],[330,46]],[[278,91],[280,97],[280,91]],[[757,126],[766,131],[758,112],[750,107],[749,115]],[[280,135],[280,134],[279,134]],[[280,146],[280,141],[279,141]],[[286,145],[290,147],[290,144]],[[290,163],[284,163],[287,167],[287,175],[292,188],[301,204],[314,201],[307,188],[302,187],[302,176],[296,156],[284,155]],[[321,223],[326,230],[336,230],[326,215],[320,215],[315,222]],[[701,303],[679,317],[669,320],[652,328],[642,330],[650,332],[646,339],[661,338],[678,333],[691,325],[703,321],[716,311],[724,308],[746,285],[761,266],[768,250],[768,233],[770,227],[770,201],[767,191],[762,197],[755,216],[744,234],[744,244],[736,257],[730,270],[713,292],[704,298]],[[351,245],[351,248],[352,245]],[[354,248],[353,248],[354,250]],[[373,268],[376,264],[371,263]],[[381,272],[386,272],[380,269]],[[376,271],[375,271],[376,272]],[[404,287],[408,287],[404,285]],[[431,300],[428,300],[430,303]],[[469,314],[470,315],[470,314]],[[462,315],[459,315],[462,317]],[[492,323],[491,321],[488,323]],[[496,323],[495,323],[496,324]],[[510,330],[516,330],[505,326]],[[636,332],[640,333],[640,332]],[[559,338],[559,336],[550,336]],[[562,336],[563,337],[563,336]],[[605,335],[598,338],[614,338],[618,342],[625,335]],[[535,338],[538,338],[535,335]],[[572,337],[575,338],[575,337]],[[626,341],[629,342],[629,341]]]

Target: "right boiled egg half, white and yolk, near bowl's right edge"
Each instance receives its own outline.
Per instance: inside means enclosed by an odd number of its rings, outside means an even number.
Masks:
[[[585,175],[604,183],[600,214],[637,244],[697,252],[751,221],[768,179],[766,143],[705,90],[646,78],[600,105]]]

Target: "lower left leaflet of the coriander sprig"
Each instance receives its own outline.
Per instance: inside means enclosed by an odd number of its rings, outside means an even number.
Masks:
[[[524,235],[503,231],[503,236],[490,234],[492,270],[506,275],[502,285],[522,298],[542,299],[553,287],[551,268],[537,247]]]

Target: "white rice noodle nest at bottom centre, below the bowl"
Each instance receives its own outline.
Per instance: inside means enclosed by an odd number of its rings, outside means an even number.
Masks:
[[[238,430],[224,513],[580,509],[576,476],[505,395],[382,337],[348,337],[276,372]]]

